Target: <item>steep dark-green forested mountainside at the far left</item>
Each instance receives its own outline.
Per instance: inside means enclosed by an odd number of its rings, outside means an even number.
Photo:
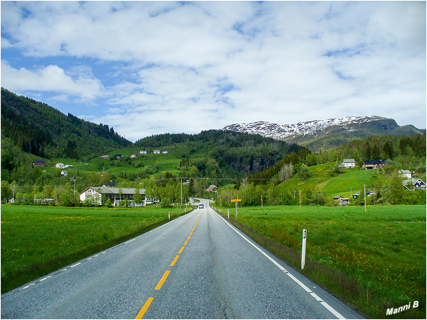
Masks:
[[[108,125],[95,124],[2,88],[4,139],[39,157],[88,159],[132,144]]]

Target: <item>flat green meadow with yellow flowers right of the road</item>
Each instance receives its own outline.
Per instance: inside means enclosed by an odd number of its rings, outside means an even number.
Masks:
[[[225,208],[224,208],[225,209]],[[425,319],[425,205],[240,207],[242,231],[372,318]],[[224,210],[222,210],[224,211]],[[227,215],[224,215],[227,217]],[[413,301],[410,308],[386,315]]]

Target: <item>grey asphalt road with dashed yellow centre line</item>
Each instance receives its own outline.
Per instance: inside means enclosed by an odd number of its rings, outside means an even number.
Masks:
[[[203,201],[2,295],[2,318],[361,318]]]

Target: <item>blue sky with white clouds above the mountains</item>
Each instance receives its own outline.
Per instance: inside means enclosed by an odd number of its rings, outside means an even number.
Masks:
[[[425,2],[1,3],[2,87],[131,141],[377,115],[426,127]]]

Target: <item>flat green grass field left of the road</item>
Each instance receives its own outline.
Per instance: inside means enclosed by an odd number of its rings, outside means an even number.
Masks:
[[[2,293],[184,214],[176,208],[2,205]]]

